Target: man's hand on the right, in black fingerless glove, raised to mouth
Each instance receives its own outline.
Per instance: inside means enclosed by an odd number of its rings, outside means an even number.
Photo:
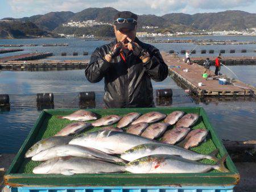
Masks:
[[[138,43],[131,41],[129,37],[127,37],[127,40],[129,40],[127,49],[129,49],[130,51],[133,51],[133,54],[139,57],[143,63],[146,63],[148,60],[150,60],[150,55],[145,49],[139,46]]]

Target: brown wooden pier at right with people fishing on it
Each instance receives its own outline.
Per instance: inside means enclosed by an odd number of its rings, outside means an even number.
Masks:
[[[256,94],[256,88],[247,85],[239,80],[233,80],[232,84],[220,85],[218,84],[218,77],[203,78],[204,67],[198,64],[188,65],[175,55],[170,55],[162,52],[162,56],[168,65],[170,76],[174,81],[184,89],[189,89],[189,93],[197,97],[206,96],[252,96]],[[185,72],[187,69],[188,72]],[[211,72],[214,75],[214,72]],[[199,82],[203,86],[199,86]]]

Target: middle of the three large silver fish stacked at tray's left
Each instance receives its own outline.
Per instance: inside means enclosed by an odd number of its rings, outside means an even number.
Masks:
[[[33,161],[47,161],[51,160],[52,158],[66,156],[97,158],[99,160],[110,162],[125,162],[122,160],[122,158],[111,156],[96,149],[82,147],[79,145],[57,145],[39,152],[31,159]]]

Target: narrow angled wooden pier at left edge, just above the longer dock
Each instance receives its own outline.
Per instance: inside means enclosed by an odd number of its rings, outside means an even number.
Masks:
[[[52,53],[27,53],[22,55],[16,55],[16,56],[9,56],[9,57],[1,57],[0,63],[4,63],[7,61],[24,61],[24,60],[38,60],[43,59],[46,57],[52,56]]]

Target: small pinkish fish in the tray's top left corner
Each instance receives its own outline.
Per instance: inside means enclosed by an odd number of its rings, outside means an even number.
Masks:
[[[57,118],[86,121],[86,120],[95,120],[95,119],[97,119],[97,115],[94,114],[92,111],[79,110],[79,111],[73,112],[70,115],[57,116]]]

